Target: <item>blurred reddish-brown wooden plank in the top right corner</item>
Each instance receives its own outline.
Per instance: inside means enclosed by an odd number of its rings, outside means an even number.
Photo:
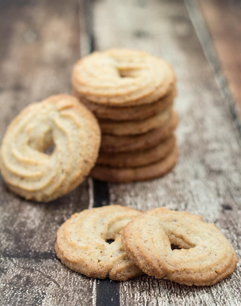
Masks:
[[[240,1],[200,0],[240,120]]]

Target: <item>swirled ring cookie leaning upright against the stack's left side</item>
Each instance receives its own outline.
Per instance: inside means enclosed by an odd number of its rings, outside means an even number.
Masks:
[[[86,106],[71,95],[51,96],[30,104],[10,123],[0,148],[2,177],[26,199],[54,200],[89,174],[100,140],[98,122]]]

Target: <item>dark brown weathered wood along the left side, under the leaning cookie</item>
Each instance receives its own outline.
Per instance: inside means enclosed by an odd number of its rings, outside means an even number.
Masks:
[[[21,4],[22,3],[22,4]],[[0,12],[0,138],[27,104],[71,92],[79,58],[77,1],[4,1]],[[55,256],[56,231],[88,207],[87,181],[49,204],[11,193],[0,179],[0,305],[91,305],[94,282]]]

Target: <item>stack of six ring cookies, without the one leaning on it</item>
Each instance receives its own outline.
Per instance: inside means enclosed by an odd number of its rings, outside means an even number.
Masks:
[[[101,127],[92,177],[143,181],[172,169],[178,156],[178,116],[173,110],[175,76],[168,63],[136,50],[94,52],[75,64],[72,84]]]

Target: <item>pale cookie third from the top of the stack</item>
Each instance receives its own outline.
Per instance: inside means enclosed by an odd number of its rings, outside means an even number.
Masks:
[[[152,117],[143,120],[133,121],[113,121],[106,119],[98,119],[101,132],[112,135],[139,135],[157,129],[165,125],[171,117],[172,108],[155,114]]]

